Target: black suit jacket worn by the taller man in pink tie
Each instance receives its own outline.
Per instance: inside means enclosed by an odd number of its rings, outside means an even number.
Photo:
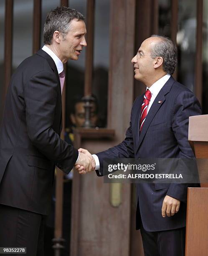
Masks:
[[[68,173],[78,157],[61,140],[61,86],[45,51],[13,74],[0,128],[0,204],[48,214],[55,165]]]

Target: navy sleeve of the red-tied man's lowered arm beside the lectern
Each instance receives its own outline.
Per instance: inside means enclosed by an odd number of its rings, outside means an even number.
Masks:
[[[195,158],[188,142],[188,121],[193,115],[201,115],[201,107],[197,98],[190,91],[180,93],[175,101],[172,115],[172,129],[180,148],[179,158]],[[197,168],[197,167],[196,167]],[[167,195],[182,202],[187,200],[188,187],[198,187],[198,184],[170,184]]]

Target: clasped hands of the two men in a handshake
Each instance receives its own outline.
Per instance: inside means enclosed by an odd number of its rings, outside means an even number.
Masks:
[[[95,169],[94,157],[84,148],[79,148],[79,159],[75,164],[76,170],[79,174],[86,174],[92,172]]]

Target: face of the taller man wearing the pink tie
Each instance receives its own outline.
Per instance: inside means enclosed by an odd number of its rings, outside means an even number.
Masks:
[[[71,20],[69,31],[63,34],[60,43],[60,51],[64,59],[77,60],[79,58],[82,48],[86,46],[85,35],[86,26],[84,21]]]

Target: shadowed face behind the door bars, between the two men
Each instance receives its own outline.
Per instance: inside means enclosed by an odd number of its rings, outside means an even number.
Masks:
[[[96,126],[97,123],[97,114],[96,114],[96,105],[92,103],[91,108],[91,123]],[[82,127],[85,121],[85,110],[84,110],[84,102],[78,102],[75,105],[75,114],[71,114],[71,122],[76,127]]]

